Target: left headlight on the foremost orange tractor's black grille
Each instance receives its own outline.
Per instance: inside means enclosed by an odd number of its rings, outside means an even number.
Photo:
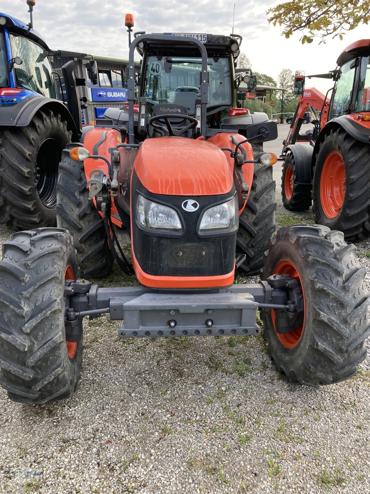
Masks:
[[[139,224],[147,230],[182,231],[181,221],[175,209],[149,201],[140,194],[136,200],[136,217]]]

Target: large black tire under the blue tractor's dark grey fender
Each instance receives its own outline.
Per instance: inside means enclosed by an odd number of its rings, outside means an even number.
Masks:
[[[6,215],[0,209],[0,221],[14,230],[56,225],[58,165],[71,137],[67,122],[47,109],[38,110],[27,127],[1,132],[0,192]]]

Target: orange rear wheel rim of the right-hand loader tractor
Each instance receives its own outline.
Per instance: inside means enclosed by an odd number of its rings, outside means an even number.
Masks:
[[[320,177],[320,201],[328,218],[335,218],[343,205],[345,178],[343,158],[333,151],[325,160]]]

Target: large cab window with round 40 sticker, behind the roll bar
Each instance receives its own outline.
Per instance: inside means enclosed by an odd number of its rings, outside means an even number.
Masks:
[[[178,103],[194,115],[195,100],[200,99],[200,58],[148,56],[144,92],[150,105]],[[208,107],[231,105],[230,63],[228,58],[208,59],[210,75]]]

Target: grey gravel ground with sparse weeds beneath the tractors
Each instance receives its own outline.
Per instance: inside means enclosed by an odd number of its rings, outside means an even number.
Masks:
[[[277,200],[280,225],[313,223],[287,213],[280,182]],[[357,247],[369,269],[369,242]],[[101,286],[135,283],[113,272]],[[85,320],[72,399],[0,390],[1,493],[370,493],[370,346],[355,377],[316,389],[288,384],[260,336],[121,340],[117,327]]]

